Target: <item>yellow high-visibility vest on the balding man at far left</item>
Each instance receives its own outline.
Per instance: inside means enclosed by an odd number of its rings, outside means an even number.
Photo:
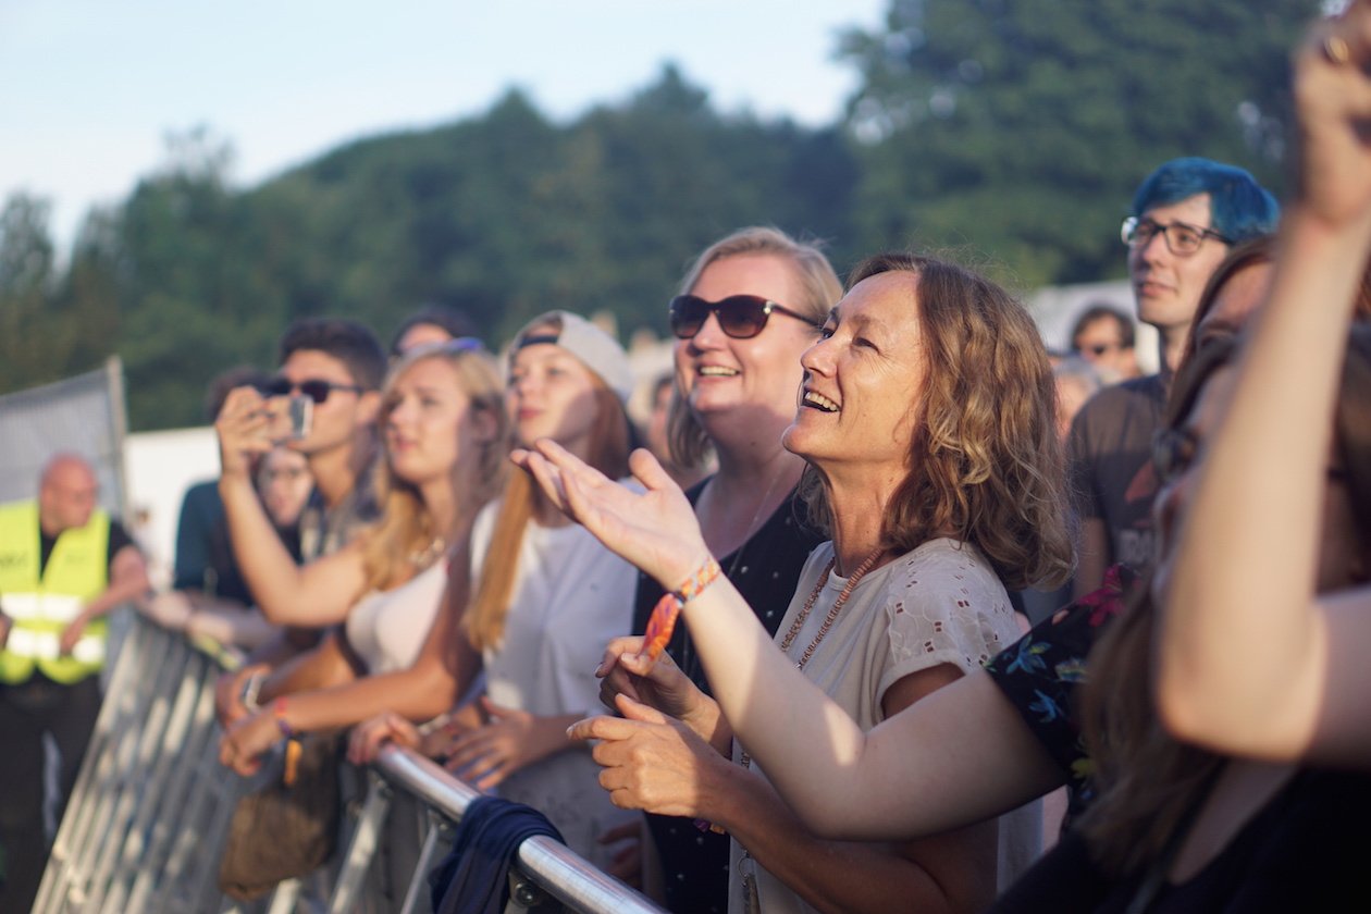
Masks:
[[[70,685],[104,666],[108,625],[85,626],[71,652],[62,655],[63,629],[110,582],[110,515],[99,508],[84,528],[63,530],[38,574],[38,503],[0,504],[0,608],[12,619],[0,651],[0,682],[16,684],[34,667]]]

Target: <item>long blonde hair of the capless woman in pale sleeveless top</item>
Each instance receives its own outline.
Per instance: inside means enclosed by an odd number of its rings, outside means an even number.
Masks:
[[[495,358],[481,348],[466,344],[437,343],[413,349],[400,358],[387,374],[381,388],[381,410],[377,426],[384,428],[396,407],[395,384],[400,375],[426,359],[441,359],[457,373],[458,385],[470,402],[470,411],[488,415],[494,436],[476,445],[476,466],[470,467],[457,486],[458,515],[470,521],[489,502],[505,481],[509,455],[509,417],[505,412],[503,385]],[[463,423],[465,428],[465,423]],[[463,449],[463,460],[472,458]],[[461,475],[461,467],[454,467]],[[389,455],[376,467],[376,500],[381,507],[380,519],[362,540],[362,567],[367,591],[388,591],[399,586],[432,560],[430,547],[447,530],[433,526],[433,515],[424,504],[418,488],[395,474]]]

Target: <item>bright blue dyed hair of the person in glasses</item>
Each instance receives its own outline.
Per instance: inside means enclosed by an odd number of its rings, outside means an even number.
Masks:
[[[1281,206],[1249,173],[1231,164],[1189,156],[1172,159],[1148,175],[1132,195],[1132,215],[1209,195],[1211,227],[1237,244],[1275,232]]]

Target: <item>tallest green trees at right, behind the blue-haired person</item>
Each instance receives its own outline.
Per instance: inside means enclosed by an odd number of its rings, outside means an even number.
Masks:
[[[1028,288],[1117,274],[1161,162],[1279,184],[1286,58],[1311,0],[893,0],[851,32],[862,248],[971,243]]]

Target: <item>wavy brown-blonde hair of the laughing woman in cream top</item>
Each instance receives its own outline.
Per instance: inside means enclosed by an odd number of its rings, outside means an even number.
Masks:
[[[882,543],[908,552],[953,536],[975,544],[1010,589],[1054,588],[1072,571],[1057,393],[1042,337],[998,285],[936,258],[895,252],[857,264],[851,289],[880,273],[912,273],[927,377],[908,471],[886,507]],[[802,495],[831,525],[814,467]]]

